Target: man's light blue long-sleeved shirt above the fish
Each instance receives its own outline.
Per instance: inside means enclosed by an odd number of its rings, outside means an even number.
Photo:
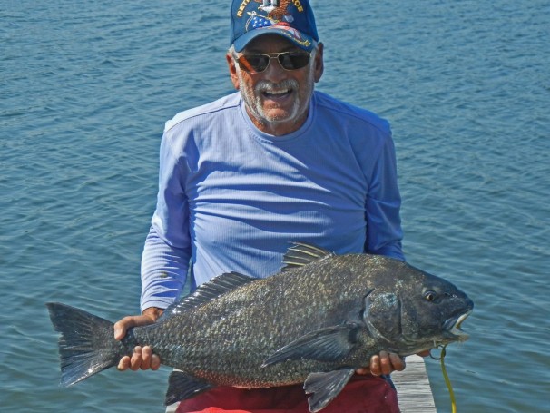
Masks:
[[[240,93],[178,113],[162,136],[142,310],[170,305],[188,273],[194,285],[270,276],[291,241],[404,260],[399,208],[391,132],[374,113],[315,92],[284,136],[260,132]]]

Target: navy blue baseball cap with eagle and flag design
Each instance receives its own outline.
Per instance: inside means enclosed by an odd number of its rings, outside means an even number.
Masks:
[[[309,0],[232,0],[231,44],[241,52],[252,39],[279,34],[310,52],[319,41]]]

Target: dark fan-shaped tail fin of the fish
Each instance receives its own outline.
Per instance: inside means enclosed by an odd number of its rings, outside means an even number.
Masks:
[[[113,323],[59,302],[48,302],[59,338],[61,385],[70,386],[118,364],[128,351],[113,337]]]

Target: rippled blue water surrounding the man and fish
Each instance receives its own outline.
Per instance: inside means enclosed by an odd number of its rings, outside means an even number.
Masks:
[[[59,388],[44,302],[138,311],[163,123],[231,92],[226,3],[0,2],[3,411],[162,411],[168,369]],[[408,261],[476,302],[458,411],[548,411],[550,4],[313,4],[319,90],[392,124]]]

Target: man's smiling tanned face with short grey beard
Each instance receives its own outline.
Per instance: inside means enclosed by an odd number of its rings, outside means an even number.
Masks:
[[[267,34],[251,41],[241,54],[280,52],[303,50],[279,35]],[[298,130],[305,122],[314,84],[322,74],[322,44],[309,64],[296,70],[285,70],[277,59],[271,59],[263,72],[246,72],[231,54],[228,64],[231,81],[241,91],[250,119],[260,131],[281,135]]]

